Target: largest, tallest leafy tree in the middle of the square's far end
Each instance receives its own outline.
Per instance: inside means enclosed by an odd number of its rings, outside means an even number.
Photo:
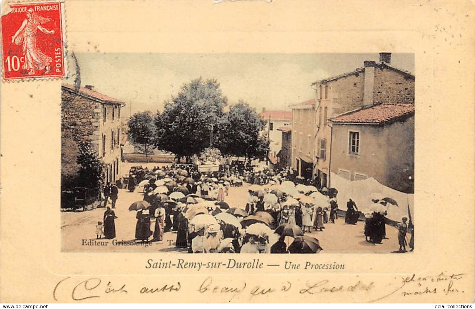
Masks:
[[[200,77],[182,85],[178,95],[166,101],[163,112],[155,117],[155,145],[189,161],[193,154],[220,140],[227,104],[217,80]]]

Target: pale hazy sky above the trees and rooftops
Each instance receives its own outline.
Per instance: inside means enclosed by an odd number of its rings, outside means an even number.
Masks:
[[[81,86],[93,85],[129,112],[163,109],[192,79],[217,79],[230,105],[244,100],[258,112],[289,109],[314,97],[316,80],[352,71],[379,54],[76,54]],[[392,54],[391,65],[414,72],[414,54]],[[72,65],[71,65],[72,66]],[[71,72],[71,69],[70,69]],[[69,83],[76,72],[72,70]]]

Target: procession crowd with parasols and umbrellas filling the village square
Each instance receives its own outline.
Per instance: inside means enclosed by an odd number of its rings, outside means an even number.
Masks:
[[[231,207],[225,201],[229,187],[244,182],[252,184],[246,205]],[[229,164],[216,172],[199,173],[192,164],[153,169],[135,166],[127,183],[129,191],[139,188],[143,192],[143,200],[129,209],[136,210],[135,239],[160,243],[163,233],[174,231],[175,246],[189,253],[316,253],[322,247],[308,234],[312,229],[323,232],[326,224],[338,219],[338,191],[317,189],[308,183],[297,179],[290,168],[269,171]],[[123,186],[122,180],[104,188],[112,208],[118,185]],[[381,207],[386,202],[372,201]],[[364,220],[367,241],[379,244],[386,238],[384,209],[375,208],[363,216],[353,200],[346,206],[345,223],[354,225]],[[114,218],[114,211],[107,208],[103,222],[106,238],[115,237]],[[404,221],[398,229],[399,250],[405,251],[406,234],[413,234],[413,228]],[[413,249],[412,240],[409,246]]]

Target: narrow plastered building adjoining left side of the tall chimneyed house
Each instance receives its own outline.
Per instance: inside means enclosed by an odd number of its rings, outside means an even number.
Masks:
[[[291,166],[305,179],[313,178],[315,103],[315,99],[310,99],[290,106],[293,115]]]

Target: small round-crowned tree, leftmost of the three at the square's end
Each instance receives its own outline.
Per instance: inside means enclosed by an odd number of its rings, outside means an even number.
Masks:
[[[146,110],[135,113],[128,122],[131,143],[145,154],[148,162],[148,154],[155,148],[156,127],[152,112]]]

